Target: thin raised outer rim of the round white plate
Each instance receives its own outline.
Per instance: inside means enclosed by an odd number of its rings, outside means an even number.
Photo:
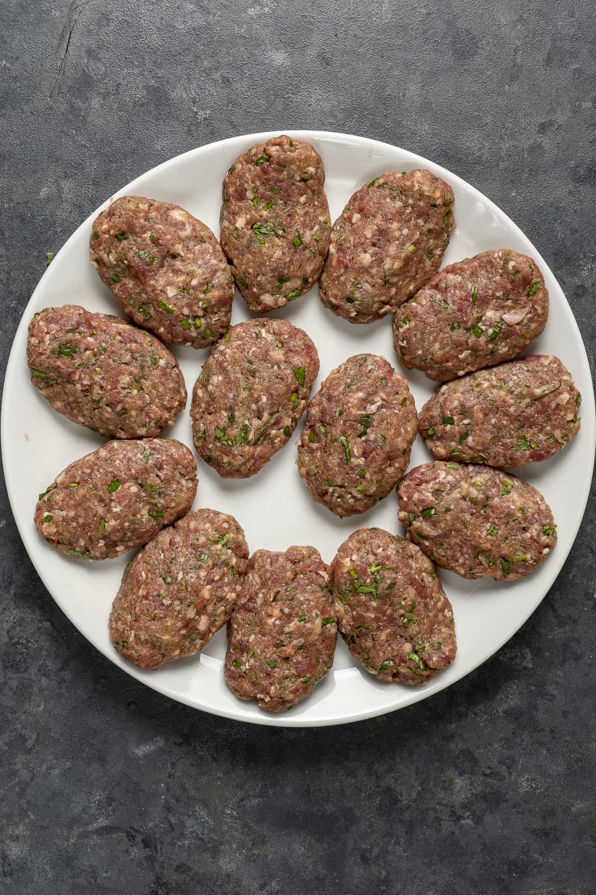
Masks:
[[[344,142],[351,141],[353,143],[354,142],[358,143],[360,148],[363,148],[363,149],[373,149],[374,150],[375,148],[377,148],[377,149],[381,149],[382,151],[385,151],[385,152],[387,150],[389,150],[390,152],[397,151],[400,154],[402,154],[403,156],[407,157],[408,165],[412,164],[414,166],[430,166],[434,171],[436,171],[441,177],[446,179],[449,183],[457,184],[460,188],[463,188],[466,192],[471,192],[472,195],[476,199],[481,200],[483,205],[486,208],[490,209],[491,212],[496,217],[499,217],[499,219],[504,224],[506,224],[508,227],[510,227],[513,230],[513,232],[515,232],[518,235],[521,235],[523,237],[523,239],[525,240],[525,242],[530,243],[530,245],[533,248],[533,256],[534,256],[535,260],[537,260],[538,264],[541,265],[542,269],[548,270],[550,272],[551,276],[557,282],[558,288],[560,289],[560,292],[564,299],[564,302],[567,305],[569,323],[572,328],[575,328],[575,337],[577,337],[579,339],[579,343],[582,346],[581,353],[576,358],[576,363],[577,363],[577,370],[579,370],[580,365],[583,366],[583,368],[584,368],[583,372],[584,373],[587,372],[586,379],[590,383],[589,390],[586,392],[586,390],[583,389],[583,392],[582,392],[582,417],[581,417],[581,419],[582,419],[582,429],[583,430],[587,429],[592,434],[591,443],[589,446],[586,445],[586,447],[591,447],[591,449],[592,449],[592,473],[593,473],[594,448],[596,447],[596,407],[594,405],[594,388],[593,388],[593,382],[592,382],[592,371],[590,369],[590,362],[588,360],[588,355],[587,355],[586,348],[585,348],[585,345],[583,342],[582,333],[580,331],[580,328],[577,325],[577,321],[575,320],[573,308],[571,307],[570,303],[567,300],[567,295],[565,294],[562,287],[558,283],[557,277],[555,276],[554,272],[551,270],[550,265],[548,265],[546,263],[546,261],[544,260],[544,258],[541,256],[541,253],[535,248],[533,242],[529,239],[529,237],[525,235],[523,230],[519,226],[516,225],[515,221],[513,221],[505,211],[500,209],[499,206],[495,204],[495,202],[493,202],[488,196],[486,196],[477,187],[475,187],[474,184],[469,183],[468,181],[464,180],[464,178],[462,178],[459,175],[455,174],[454,172],[450,171],[448,168],[445,168],[444,166],[441,166],[437,162],[432,161],[432,159],[424,158],[424,156],[420,156],[415,152],[411,152],[409,149],[403,149],[399,146],[396,146],[395,144],[388,143],[385,141],[374,140],[371,137],[365,137],[365,136],[358,135],[358,134],[349,134],[346,132],[334,132],[334,131],[294,129],[294,128],[290,128],[290,129],[280,128],[280,129],[274,129],[274,130],[268,130],[268,131],[256,132],[256,133],[237,134],[232,137],[226,137],[223,140],[204,143],[201,146],[194,147],[193,149],[187,149],[185,152],[181,152],[178,155],[172,156],[171,158],[167,158],[163,162],[160,162],[158,165],[148,168],[147,171],[144,171],[140,175],[137,175],[129,183],[122,186],[119,190],[113,192],[109,198],[107,198],[104,202],[102,202],[97,207],[97,209],[92,211],[88,215],[88,217],[85,217],[84,220],[81,221],[79,226],[75,227],[75,229],[72,231],[71,235],[68,237],[66,242],[63,243],[63,246],[61,246],[61,248],[55,252],[55,259],[59,258],[59,256],[63,253],[64,250],[66,250],[68,248],[69,244],[72,241],[74,241],[75,237],[77,236],[77,234],[80,233],[80,231],[82,229],[88,228],[88,225],[95,219],[95,217],[97,217],[97,214],[101,210],[105,209],[109,204],[111,204],[111,202],[114,199],[118,198],[122,194],[127,194],[127,193],[133,192],[136,188],[136,184],[139,182],[139,180],[141,178],[144,178],[147,175],[161,175],[169,167],[175,166],[176,164],[178,164],[180,162],[180,159],[183,159],[183,158],[187,159],[187,160],[190,157],[200,158],[200,156],[203,153],[205,153],[207,151],[213,151],[216,148],[221,149],[223,152],[226,149],[230,149],[233,145],[238,146],[243,141],[246,141],[247,143],[248,143],[248,141],[250,141],[250,145],[253,145],[254,143],[266,141],[267,139],[269,139],[273,136],[277,136],[278,134],[281,134],[281,133],[285,133],[285,134],[288,134],[288,136],[290,136],[290,137],[295,137],[297,139],[304,139],[307,141],[318,140],[318,141],[332,141],[332,142],[336,142],[336,143],[340,142],[340,141],[344,141]],[[240,151],[241,151],[241,149],[240,149]],[[7,451],[7,449],[6,449],[10,433],[8,431],[8,422],[6,422],[7,414],[4,413],[5,405],[9,400],[7,398],[7,395],[10,392],[10,388],[7,388],[7,386],[10,386],[14,376],[17,375],[15,373],[17,364],[19,364],[22,361],[22,358],[18,355],[18,353],[16,351],[17,342],[21,338],[22,330],[28,328],[28,326],[29,326],[29,319],[27,317],[27,311],[28,311],[29,305],[34,301],[36,294],[38,294],[38,290],[40,290],[42,288],[42,284],[44,283],[45,277],[46,277],[46,271],[44,271],[42,276],[39,278],[37,286],[35,287],[33,292],[30,294],[29,301],[25,305],[25,307],[22,311],[21,320],[19,321],[19,325],[16,328],[16,331],[14,333],[13,343],[11,345],[11,351],[10,351],[10,354],[8,357],[8,361],[6,363],[6,368],[5,368],[5,373],[4,373],[4,388],[3,388],[3,396],[2,396],[2,411],[1,411],[2,420],[0,422],[0,447],[2,449],[2,454],[3,454],[4,471],[6,471],[6,458],[7,458],[7,456],[10,456],[10,451]],[[584,436],[584,439],[587,439],[587,438],[588,438],[588,434],[586,434]],[[555,581],[558,578],[558,575],[560,574],[561,570],[563,569],[563,567],[565,566],[565,564],[567,562],[567,558],[571,551],[571,547],[573,546],[573,543],[575,542],[577,532],[579,531],[579,527],[582,524],[583,516],[585,514],[585,509],[587,507],[587,502],[590,497],[590,488],[588,488],[585,492],[584,497],[583,497],[582,506],[581,506],[581,508],[578,509],[577,515],[575,516],[576,524],[575,524],[575,529],[573,530],[573,532],[571,532],[571,534],[572,534],[572,538],[570,541],[571,546],[569,547],[569,550],[567,551],[565,558],[562,559],[560,561],[560,563],[558,564],[557,570],[555,572],[553,572],[552,575],[548,576],[548,583],[546,584],[546,589],[544,590],[543,593],[541,593],[540,597],[538,597],[537,599],[533,598],[532,601],[529,601],[528,605],[526,606],[526,611],[519,616],[519,618],[521,620],[516,625],[515,630],[509,632],[508,635],[504,636],[502,639],[499,638],[499,642],[494,646],[494,648],[491,648],[491,652],[489,652],[488,655],[485,655],[479,661],[474,661],[474,663],[470,667],[466,667],[466,670],[462,671],[461,674],[457,675],[457,677],[454,680],[450,680],[449,682],[441,683],[441,676],[436,676],[430,685],[426,685],[426,686],[417,688],[416,690],[413,690],[411,692],[411,694],[409,695],[407,703],[400,703],[399,705],[395,705],[390,708],[382,707],[382,708],[374,708],[372,710],[364,711],[364,712],[357,711],[357,712],[354,712],[353,714],[344,715],[341,718],[330,717],[330,718],[326,718],[326,719],[317,718],[317,719],[310,720],[308,718],[304,718],[303,716],[298,716],[298,715],[296,715],[292,718],[288,712],[285,712],[282,714],[281,713],[273,714],[273,713],[259,712],[259,713],[255,713],[254,715],[247,716],[247,715],[242,714],[243,703],[239,703],[239,707],[238,707],[237,711],[228,709],[225,706],[223,706],[221,710],[214,709],[211,706],[202,706],[202,705],[199,706],[199,705],[197,705],[196,701],[193,701],[189,697],[185,697],[184,695],[179,694],[179,693],[173,693],[172,690],[168,686],[164,686],[164,685],[160,686],[159,678],[155,677],[153,680],[151,678],[146,679],[146,676],[143,674],[142,669],[138,669],[136,666],[132,665],[132,663],[127,662],[127,663],[123,664],[119,661],[115,661],[115,656],[113,656],[109,652],[106,652],[99,644],[97,644],[94,640],[90,639],[87,634],[84,634],[80,630],[75,618],[73,617],[73,615],[71,614],[69,609],[67,609],[65,607],[65,605],[63,605],[63,602],[58,597],[56,597],[53,590],[47,584],[46,577],[43,573],[43,566],[42,566],[41,560],[40,559],[38,560],[36,558],[38,556],[38,551],[36,551],[34,549],[33,539],[31,539],[29,537],[29,535],[31,533],[29,532],[29,530],[26,530],[24,528],[24,525],[21,525],[19,518],[17,516],[17,513],[15,513],[14,507],[16,506],[16,499],[15,499],[13,484],[11,482],[10,475],[5,475],[5,482],[6,482],[6,491],[8,494],[9,504],[11,507],[11,511],[13,513],[13,519],[17,526],[17,530],[21,536],[21,541],[23,543],[23,546],[29,556],[29,560],[31,561],[33,567],[35,568],[36,572],[38,573],[38,576],[41,579],[42,584],[44,584],[46,591],[50,594],[50,596],[55,601],[55,603],[58,605],[58,607],[63,611],[64,615],[69,619],[71,624],[77,629],[77,631],[79,631],[80,635],[82,635],[88,641],[88,643],[92,644],[99,652],[101,652],[105,656],[106,659],[111,661],[118,668],[125,671],[131,677],[136,678],[137,680],[139,680],[140,683],[144,684],[145,686],[150,687],[151,689],[155,690],[155,692],[160,693],[161,695],[167,696],[167,697],[175,700],[176,702],[183,703],[185,705],[188,705],[190,708],[193,708],[195,710],[202,711],[202,712],[208,712],[209,714],[213,714],[218,717],[228,718],[231,720],[239,720],[239,721],[242,721],[245,723],[256,724],[256,725],[261,725],[261,726],[265,726],[265,727],[280,727],[280,728],[329,727],[329,726],[334,726],[334,725],[339,725],[339,724],[354,723],[358,720],[368,720],[370,718],[374,718],[374,717],[377,717],[382,714],[390,714],[391,712],[397,712],[400,709],[405,709],[405,708],[407,708],[408,705],[412,705],[414,703],[421,702],[423,699],[428,699],[431,696],[435,695],[436,693],[441,692],[441,690],[444,690],[444,689],[448,688],[449,686],[454,686],[455,684],[457,684],[458,681],[462,680],[463,678],[466,678],[466,676],[468,674],[471,674],[472,671],[477,669],[485,661],[488,661],[489,659],[491,659],[491,657],[496,652],[498,652],[504,644],[508,643],[508,641],[514,635],[516,635],[516,633],[519,631],[519,629],[523,625],[525,625],[525,622],[528,620],[528,618],[530,618],[530,616],[533,614],[533,612],[538,608],[541,601],[544,600],[544,598],[550,592],[550,589],[552,588],[553,584],[555,583]],[[29,544],[31,544],[30,550],[29,550]],[[154,681],[155,681],[155,683],[154,683]]]

